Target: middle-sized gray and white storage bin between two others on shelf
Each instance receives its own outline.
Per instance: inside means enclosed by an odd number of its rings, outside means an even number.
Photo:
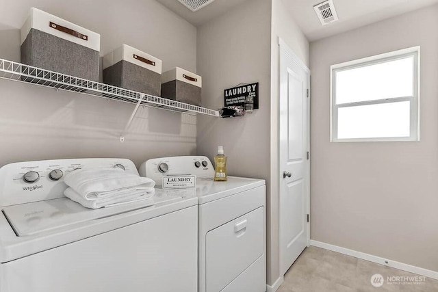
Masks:
[[[123,44],[103,57],[103,83],[160,96],[162,60]]]

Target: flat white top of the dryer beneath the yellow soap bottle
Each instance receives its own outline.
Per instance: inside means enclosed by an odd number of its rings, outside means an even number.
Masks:
[[[238,176],[228,176],[228,181],[214,181],[212,177],[197,178],[196,196],[198,196],[198,204],[205,204],[265,184],[263,179]]]

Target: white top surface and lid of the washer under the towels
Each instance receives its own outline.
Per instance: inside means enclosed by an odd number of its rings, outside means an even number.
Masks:
[[[195,206],[191,192],[157,189],[149,200],[87,209],[68,198],[4,207],[0,214],[0,263]]]

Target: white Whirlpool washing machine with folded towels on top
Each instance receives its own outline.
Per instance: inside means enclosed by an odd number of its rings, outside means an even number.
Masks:
[[[127,159],[63,159],[0,168],[0,292],[193,292],[195,194],[86,209],[64,197],[76,168],[123,168]]]

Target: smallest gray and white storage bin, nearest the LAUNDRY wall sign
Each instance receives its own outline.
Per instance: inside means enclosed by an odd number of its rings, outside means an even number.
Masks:
[[[164,72],[162,97],[201,106],[202,77],[182,68]]]

